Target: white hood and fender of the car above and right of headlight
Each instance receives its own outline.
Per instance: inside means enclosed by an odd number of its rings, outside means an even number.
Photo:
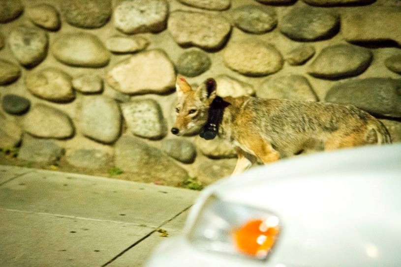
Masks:
[[[206,188],[210,196],[276,214],[282,232],[270,262],[290,266],[391,266],[401,261],[401,145],[281,160]]]

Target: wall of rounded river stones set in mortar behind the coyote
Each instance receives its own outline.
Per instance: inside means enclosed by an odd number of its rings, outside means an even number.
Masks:
[[[218,93],[353,104],[401,141],[400,0],[0,0],[0,147],[207,184],[219,140],[172,136],[177,73]]]

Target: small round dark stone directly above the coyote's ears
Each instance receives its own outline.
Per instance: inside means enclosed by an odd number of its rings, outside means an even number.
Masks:
[[[212,65],[208,54],[200,50],[189,50],[180,55],[177,60],[177,71],[187,77],[198,76]]]

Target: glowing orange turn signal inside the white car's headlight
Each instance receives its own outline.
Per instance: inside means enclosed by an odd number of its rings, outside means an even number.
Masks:
[[[276,216],[266,220],[254,219],[234,232],[234,240],[240,252],[263,258],[275,244],[279,231]]]

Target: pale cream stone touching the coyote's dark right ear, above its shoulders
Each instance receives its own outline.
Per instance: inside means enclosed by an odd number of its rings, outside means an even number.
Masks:
[[[218,75],[216,78],[217,95],[221,97],[239,97],[243,95],[254,95],[255,90],[250,84],[241,82],[228,75]]]

